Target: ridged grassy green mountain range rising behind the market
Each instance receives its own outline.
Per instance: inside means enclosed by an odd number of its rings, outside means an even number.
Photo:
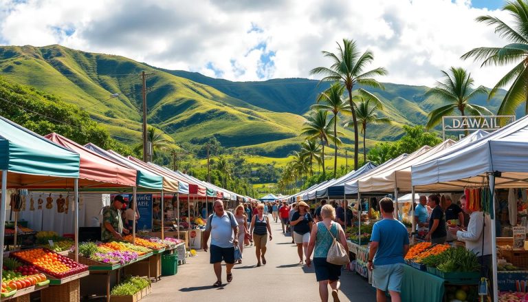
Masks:
[[[232,82],[201,74],[152,67],[123,56],[72,50],[61,45],[0,47],[0,76],[30,85],[78,105],[107,127],[113,138],[135,144],[141,137],[142,85],[146,80],[148,123],[175,142],[200,144],[215,136],[223,147],[248,153],[285,157],[303,138],[303,114],[327,83],[304,78],[263,82]],[[393,125],[371,127],[367,146],[401,136],[401,125],[425,125],[427,113],[439,100],[424,98],[427,87],[384,84],[373,89]],[[111,97],[119,94],[118,97]],[[502,94],[489,103],[496,111]],[[351,147],[353,133],[344,132]]]

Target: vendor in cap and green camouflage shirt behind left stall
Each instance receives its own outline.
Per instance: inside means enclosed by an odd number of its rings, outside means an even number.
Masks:
[[[121,239],[122,233],[128,234],[129,230],[123,228],[121,208],[124,199],[121,195],[113,197],[113,203],[102,211],[101,241]]]

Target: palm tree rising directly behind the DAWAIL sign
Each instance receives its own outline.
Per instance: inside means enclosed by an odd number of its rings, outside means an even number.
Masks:
[[[471,74],[463,68],[451,67],[450,72],[451,74],[448,74],[448,72],[442,70],[443,80],[437,82],[437,87],[433,87],[426,92],[426,96],[436,96],[449,103],[429,113],[427,129],[438,125],[443,116],[452,115],[455,109],[460,111],[461,116],[465,116],[465,114],[472,116],[492,114],[486,107],[469,103],[478,94],[486,94],[487,90],[485,87],[478,86],[476,89],[472,89],[474,80]],[[467,135],[467,126],[465,129],[465,135]]]

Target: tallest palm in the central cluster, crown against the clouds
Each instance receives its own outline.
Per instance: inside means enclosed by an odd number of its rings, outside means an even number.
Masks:
[[[316,67],[311,69],[310,74],[322,74],[324,78],[322,78],[321,81],[340,82],[345,88],[347,88],[354,125],[354,169],[358,169],[358,120],[355,116],[355,105],[352,98],[352,91],[356,84],[383,89],[383,85],[375,80],[373,76],[384,76],[388,72],[383,67],[364,72],[365,66],[372,63],[374,54],[370,50],[360,54],[358,51],[358,45],[356,45],[353,40],[343,39],[342,46],[338,42],[336,43],[338,44],[337,54],[325,51],[322,52],[323,56],[331,59],[331,67]],[[364,91],[364,89],[359,90]]]

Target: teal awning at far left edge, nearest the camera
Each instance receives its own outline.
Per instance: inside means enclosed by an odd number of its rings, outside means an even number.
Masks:
[[[8,188],[42,182],[57,186],[68,182],[71,187],[71,179],[79,177],[79,164],[78,153],[0,116],[0,170],[10,172]]]

